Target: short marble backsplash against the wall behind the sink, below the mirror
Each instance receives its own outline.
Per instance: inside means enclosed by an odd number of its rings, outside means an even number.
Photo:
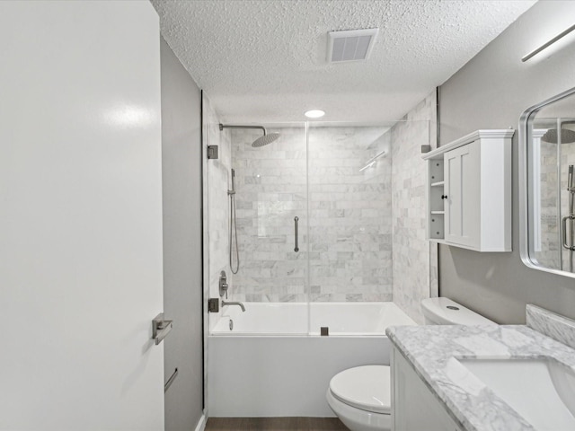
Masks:
[[[528,303],[526,325],[547,337],[575,348],[575,321],[571,319]]]

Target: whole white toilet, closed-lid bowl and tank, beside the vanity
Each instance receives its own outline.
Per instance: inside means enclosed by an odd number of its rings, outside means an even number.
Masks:
[[[421,301],[426,325],[495,325],[448,298]],[[391,430],[391,373],[387,365],[349,368],[332,377],[327,403],[351,431]]]

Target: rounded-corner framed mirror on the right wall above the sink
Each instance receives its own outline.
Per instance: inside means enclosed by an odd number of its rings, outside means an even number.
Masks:
[[[575,277],[575,88],[519,121],[521,258]]]

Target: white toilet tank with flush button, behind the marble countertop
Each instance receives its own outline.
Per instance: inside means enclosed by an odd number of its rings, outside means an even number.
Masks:
[[[426,325],[496,325],[494,321],[472,312],[449,298],[428,298],[421,301]]]

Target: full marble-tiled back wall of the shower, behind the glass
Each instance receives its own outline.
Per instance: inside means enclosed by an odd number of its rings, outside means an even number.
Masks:
[[[251,146],[261,132],[232,131],[241,260],[234,300],[392,299],[391,158],[362,170],[382,150],[389,154],[385,130],[310,128],[308,166],[303,127],[270,129],[281,137],[261,148]]]

